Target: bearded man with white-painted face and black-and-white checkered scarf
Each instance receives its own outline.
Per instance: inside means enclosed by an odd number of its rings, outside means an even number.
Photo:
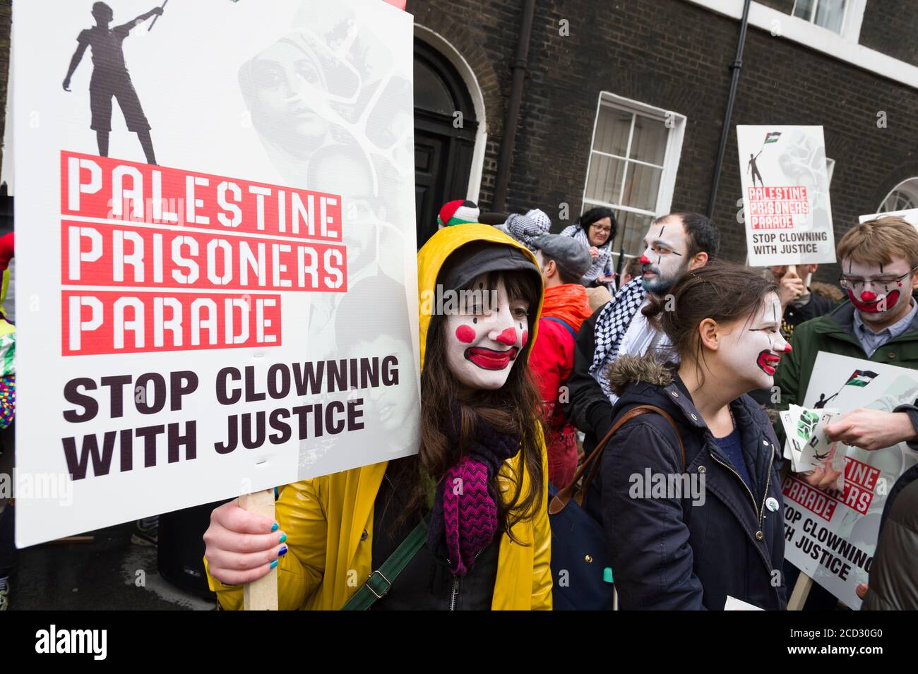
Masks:
[[[704,215],[657,218],[644,236],[642,275],[622,286],[581,326],[564,409],[567,419],[586,434],[584,451],[595,447],[611,426],[618,396],[610,387],[608,371],[615,359],[648,352],[660,360],[676,357],[666,334],[649,324],[641,311],[649,303],[648,295],[666,299],[678,279],[716,257],[720,242],[720,234]]]

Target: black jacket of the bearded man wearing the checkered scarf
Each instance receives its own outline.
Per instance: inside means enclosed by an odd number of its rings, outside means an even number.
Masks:
[[[612,403],[602,392],[599,382],[589,373],[596,346],[596,317],[602,309],[600,306],[580,326],[574,344],[574,370],[566,381],[568,394],[561,397],[567,421],[576,425],[585,435],[583,449],[587,454],[596,447],[599,438],[605,436],[612,425]]]

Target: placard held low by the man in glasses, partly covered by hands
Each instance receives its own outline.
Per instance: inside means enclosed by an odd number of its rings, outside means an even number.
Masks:
[[[918,372],[821,351],[804,406],[891,412],[915,399]],[[867,451],[839,442],[835,451],[845,457],[843,492],[815,489],[793,474],[784,479],[784,554],[835,597],[858,608],[855,588],[868,580],[886,496],[918,458],[905,443]]]

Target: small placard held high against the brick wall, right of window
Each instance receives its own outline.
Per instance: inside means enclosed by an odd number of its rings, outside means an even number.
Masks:
[[[754,267],[835,261],[823,127],[736,127]]]

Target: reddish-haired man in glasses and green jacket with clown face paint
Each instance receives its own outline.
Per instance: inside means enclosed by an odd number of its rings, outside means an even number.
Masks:
[[[918,231],[901,217],[884,216],[851,228],[838,242],[839,283],[847,301],[794,330],[794,350],[775,377],[778,409],[802,404],[820,351],[918,369]],[[783,441],[783,429],[776,425]],[[900,442],[918,450],[918,408],[892,412],[855,410],[825,428],[831,440],[862,449]],[[838,472],[826,466],[807,476],[813,486],[831,487]]]

